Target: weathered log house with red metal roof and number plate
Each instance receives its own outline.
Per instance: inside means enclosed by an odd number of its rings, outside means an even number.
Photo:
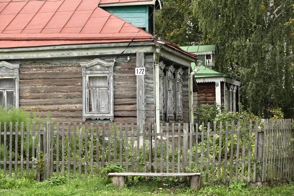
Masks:
[[[2,107],[56,122],[188,123],[197,56],[148,33],[161,1],[120,3],[1,2]],[[146,24],[110,13],[120,5],[145,7]]]

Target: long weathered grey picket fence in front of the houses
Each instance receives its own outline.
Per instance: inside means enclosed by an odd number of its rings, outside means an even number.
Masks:
[[[87,179],[119,164],[126,172],[202,172],[206,182],[224,184],[294,176],[291,120],[154,127],[0,123],[0,173]]]

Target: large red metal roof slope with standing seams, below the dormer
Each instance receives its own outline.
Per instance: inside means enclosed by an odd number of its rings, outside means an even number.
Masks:
[[[100,0],[0,0],[0,48],[151,40]]]

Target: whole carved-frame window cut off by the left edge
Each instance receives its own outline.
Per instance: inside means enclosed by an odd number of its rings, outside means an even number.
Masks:
[[[19,107],[19,65],[0,62],[0,106]]]

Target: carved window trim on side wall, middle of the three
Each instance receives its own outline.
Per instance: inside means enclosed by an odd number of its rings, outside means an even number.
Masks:
[[[166,66],[165,67],[166,71],[166,115],[167,115],[167,120],[172,121],[174,118],[174,104],[173,104],[173,98],[174,98],[174,68],[173,66]]]

